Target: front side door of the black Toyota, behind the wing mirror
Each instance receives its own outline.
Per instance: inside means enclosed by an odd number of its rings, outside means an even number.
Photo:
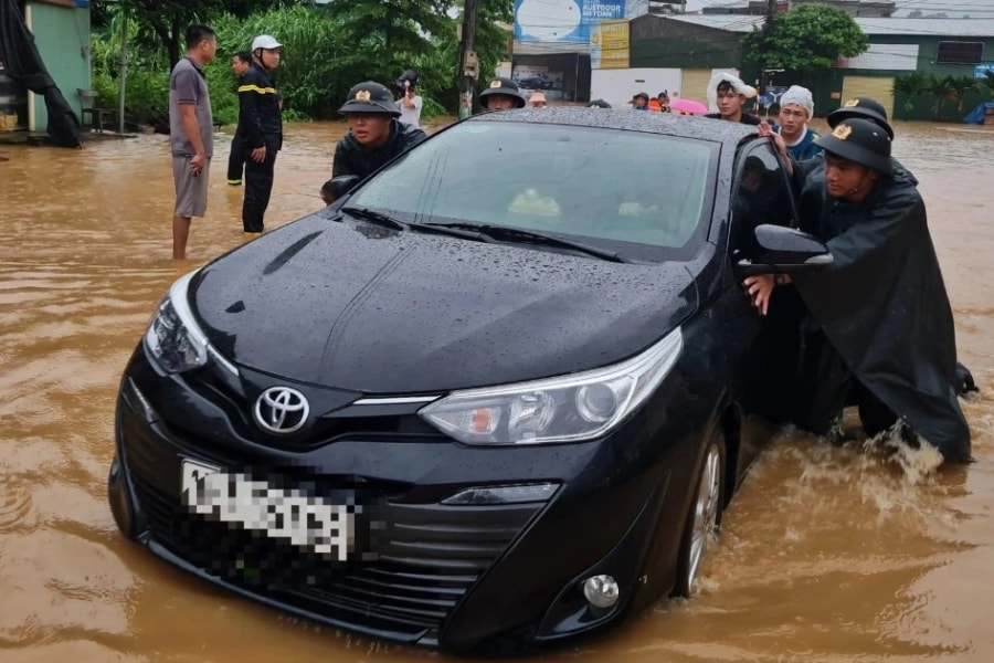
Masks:
[[[729,269],[740,287],[744,278],[737,267],[742,259],[757,257],[754,229],[760,224],[797,228],[797,203],[783,160],[769,141],[742,148],[734,168],[729,227]],[[778,286],[766,316],[748,296],[731,311],[742,336],[734,351],[733,398],[741,417],[738,470],[754,460],[769,441],[774,423],[790,419],[796,408],[794,378],[800,354],[799,324],[803,313],[791,285]]]

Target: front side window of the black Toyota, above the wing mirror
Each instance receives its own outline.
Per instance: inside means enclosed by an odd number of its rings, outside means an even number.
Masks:
[[[757,225],[772,223],[797,228],[790,180],[782,162],[768,144],[757,145],[742,155],[736,168],[732,196],[732,254],[755,254]]]

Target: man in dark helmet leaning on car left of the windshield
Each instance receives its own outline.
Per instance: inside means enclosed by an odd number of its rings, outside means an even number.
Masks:
[[[353,85],[338,112],[348,118],[349,133],[335,148],[332,179],[343,175],[364,179],[427,137],[422,129],[398,122],[400,110],[393,95],[385,85],[373,81]],[[326,204],[335,201],[331,180],[321,187],[321,199]]]

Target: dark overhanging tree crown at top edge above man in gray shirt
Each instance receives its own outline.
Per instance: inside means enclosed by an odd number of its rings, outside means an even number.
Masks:
[[[225,13],[245,18],[299,3],[300,0],[93,0],[92,10],[97,28],[107,27],[112,17],[123,11],[138,25],[137,44],[152,49],[161,45],[171,67],[183,55],[183,34],[191,23],[211,24]]]

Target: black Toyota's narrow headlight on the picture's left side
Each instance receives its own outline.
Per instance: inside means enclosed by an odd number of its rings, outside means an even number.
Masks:
[[[145,333],[145,348],[168,373],[192,370],[208,362],[207,336],[197,326],[187,298],[193,274],[172,284]]]

